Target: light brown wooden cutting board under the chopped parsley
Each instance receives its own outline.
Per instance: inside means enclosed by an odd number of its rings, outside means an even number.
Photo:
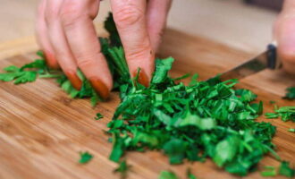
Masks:
[[[176,30],[166,31],[160,52],[160,56],[176,58],[173,76],[198,72],[201,79],[224,72],[253,56]],[[34,57],[30,53],[0,60],[0,68],[11,64],[21,66]],[[282,71],[265,70],[243,79],[238,86],[256,92],[265,104],[265,112],[271,112],[270,100],[277,101],[279,106],[295,106],[294,101],[282,99],[284,90],[295,86],[294,79]],[[108,159],[112,144],[105,135],[106,124],[119,102],[118,95],[113,93],[107,102],[93,108],[89,99],[68,98],[52,80],[17,86],[0,82],[0,178],[120,178],[113,172],[117,164]],[[94,116],[98,112],[105,117],[96,121]],[[295,128],[295,124],[263,116],[258,121],[277,126],[274,137],[277,152],[294,164],[295,133],[287,130]],[[89,151],[94,155],[93,160],[87,165],[78,164],[80,151]],[[125,158],[131,165],[128,178],[157,178],[162,170],[173,170],[180,178],[186,178],[188,167],[198,178],[239,178],[210,160],[171,166],[159,151],[131,152]],[[267,156],[259,168],[262,166],[279,166],[279,162]],[[263,177],[255,172],[244,178]]]

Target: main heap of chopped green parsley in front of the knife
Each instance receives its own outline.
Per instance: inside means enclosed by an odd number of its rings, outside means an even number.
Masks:
[[[230,173],[247,175],[268,151],[275,127],[254,120],[262,103],[249,90],[233,90],[236,80],[192,86],[176,84],[167,73],[173,58],[156,60],[150,87],[131,87],[108,124],[119,161],[128,150],[160,149],[171,164],[213,158]],[[169,68],[168,68],[169,67]]]

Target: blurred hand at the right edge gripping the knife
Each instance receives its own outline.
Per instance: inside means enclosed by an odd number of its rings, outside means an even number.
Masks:
[[[295,74],[295,1],[285,0],[282,13],[274,23],[274,39],[286,72]]]

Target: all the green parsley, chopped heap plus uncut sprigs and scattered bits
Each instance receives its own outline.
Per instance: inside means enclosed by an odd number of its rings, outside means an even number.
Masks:
[[[168,74],[173,65],[173,58],[168,57],[156,59],[156,70],[146,88],[139,84],[137,77],[130,79],[112,16],[105,21],[105,29],[110,32],[110,38],[99,40],[114,77],[114,90],[120,91],[122,100],[113,120],[107,124],[113,142],[109,158],[120,164],[117,172],[126,174],[129,166],[122,161],[122,156],[128,151],[158,150],[173,165],[211,158],[217,166],[235,175],[255,171],[258,162],[268,152],[279,159],[272,143],[275,127],[255,121],[263,113],[263,103],[257,102],[257,95],[250,90],[235,90],[237,80],[219,81],[216,77],[198,81],[198,75],[194,75],[189,85],[178,83],[176,81],[181,78],[173,79]],[[72,98],[91,98],[92,105],[97,104],[100,98],[82,72],[78,72],[83,81],[78,91],[63,72],[48,69],[44,56],[39,55],[42,59],[21,68],[5,68],[6,73],[0,74],[0,81],[15,80],[14,83],[18,84],[35,81],[37,77],[55,78]],[[294,120],[294,110],[294,107],[282,107],[267,116]],[[96,119],[102,117],[97,114]],[[89,158],[87,153],[81,154],[80,163],[88,162]],[[177,178],[166,171],[160,178],[168,176]],[[191,173],[189,176],[196,178]]]

